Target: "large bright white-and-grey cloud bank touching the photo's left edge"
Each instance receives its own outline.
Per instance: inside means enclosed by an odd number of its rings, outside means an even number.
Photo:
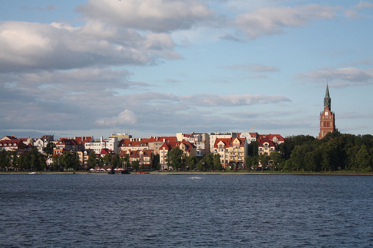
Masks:
[[[167,34],[140,35],[133,30],[88,22],[0,23],[0,72],[73,69],[94,65],[154,64],[179,59]]]

